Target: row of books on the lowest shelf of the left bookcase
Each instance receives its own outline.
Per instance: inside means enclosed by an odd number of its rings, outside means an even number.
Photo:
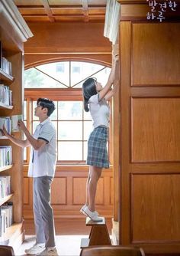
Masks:
[[[12,207],[11,202],[0,207],[0,237],[5,234],[6,228],[10,227],[13,223]]]

